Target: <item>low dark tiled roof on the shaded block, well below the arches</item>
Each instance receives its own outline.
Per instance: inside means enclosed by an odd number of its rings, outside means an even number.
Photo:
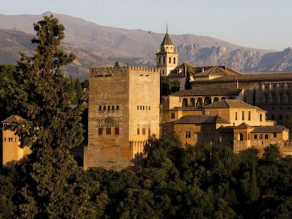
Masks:
[[[222,118],[220,115],[185,115],[174,124],[213,124],[224,123],[229,124],[229,121]]]

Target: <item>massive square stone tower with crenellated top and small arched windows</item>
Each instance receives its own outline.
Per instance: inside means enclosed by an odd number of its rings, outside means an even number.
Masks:
[[[92,68],[89,82],[84,168],[126,168],[159,137],[159,69]]]

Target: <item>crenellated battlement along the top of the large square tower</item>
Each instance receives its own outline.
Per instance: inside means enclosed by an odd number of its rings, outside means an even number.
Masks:
[[[113,75],[121,75],[129,72],[135,73],[159,73],[159,68],[148,68],[140,66],[126,66],[126,67],[104,67],[104,68],[90,68],[90,77],[110,77]]]

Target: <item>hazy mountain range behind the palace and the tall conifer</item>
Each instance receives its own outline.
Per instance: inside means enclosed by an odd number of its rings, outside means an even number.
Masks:
[[[44,15],[54,15],[65,27],[63,49],[76,55],[65,71],[80,80],[88,78],[88,69],[120,65],[155,66],[155,53],[164,33],[104,27],[81,18],[51,12],[42,15],[0,14],[0,64],[15,63],[19,52],[31,54],[33,23]],[[228,65],[240,72],[292,72],[292,49],[271,51],[252,49],[197,35],[171,35],[178,51],[179,63],[196,66]]]

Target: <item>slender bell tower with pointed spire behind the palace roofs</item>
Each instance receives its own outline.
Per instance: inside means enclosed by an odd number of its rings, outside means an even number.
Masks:
[[[160,51],[156,53],[157,68],[160,69],[162,76],[167,76],[176,68],[178,63],[178,53],[174,48],[174,44],[169,37],[168,28],[166,27],[166,34],[160,44]]]

